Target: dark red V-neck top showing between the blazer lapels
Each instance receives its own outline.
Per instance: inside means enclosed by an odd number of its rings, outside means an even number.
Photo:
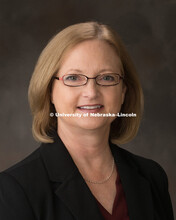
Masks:
[[[113,204],[112,215],[97,201],[101,214],[105,220],[129,220],[128,208],[122,183],[117,172],[116,196]]]

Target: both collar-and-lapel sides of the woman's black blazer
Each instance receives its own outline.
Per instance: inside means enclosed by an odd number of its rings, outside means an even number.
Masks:
[[[56,195],[76,219],[102,220],[97,202],[62,140],[57,133],[53,137],[54,143],[42,144],[41,155],[50,181],[57,183]],[[152,220],[153,204],[148,181],[139,173],[129,152],[111,142],[110,146],[125,192],[130,220]]]

